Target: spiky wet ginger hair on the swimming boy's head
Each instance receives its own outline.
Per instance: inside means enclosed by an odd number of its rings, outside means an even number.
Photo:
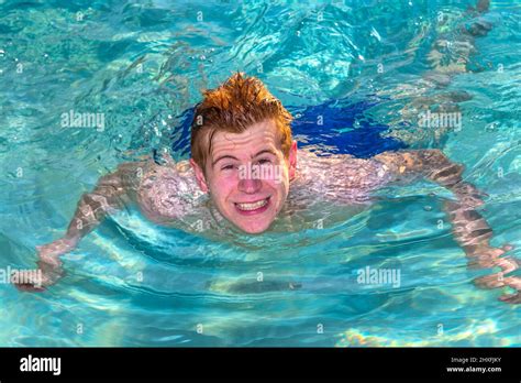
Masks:
[[[232,75],[215,89],[202,92],[191,123],[191,157],[204,169],[217,132],[242,133],[253,124],[271,120],[280,136],[282,153],[291,146],[290,112],[256,77]]]

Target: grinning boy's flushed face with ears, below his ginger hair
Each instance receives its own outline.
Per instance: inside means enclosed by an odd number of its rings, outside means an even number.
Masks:
[[[206,172],[190,163],[202,192],[221,215],[247,233],[269,228],[282,208],[297,166],[297,143],[286,158],[275,122],[266,120],[236,134],[213,135]]]

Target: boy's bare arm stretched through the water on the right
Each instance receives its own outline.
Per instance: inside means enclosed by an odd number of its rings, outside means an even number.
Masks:
[[[516,294],[506,294],[501,300],[521,303],[521,278],[506,276],[519,267],[513,258],[500,258],[509,247],[490,245],[492,229],[476,207],[484,204],[476,187],[462,178],[464,166],[451,162],[439,150],[385,152],[375,160],[384,163],[396,180],[411,180],[423,177],[437,183],[456,196],[455,201],[446,201],[444,208],[452,223],[455,240],[468,258],[469,267],[499,267],[501,271],[475,280],[480,287],[496,288],[509,286]]]

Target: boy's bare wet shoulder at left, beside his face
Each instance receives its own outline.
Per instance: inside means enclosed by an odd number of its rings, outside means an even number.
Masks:
[[[144,164],[136,201],[148,219],[167,222],[197,215],[203,197],[188,161],[167,161],[165,165],[148,161]]]

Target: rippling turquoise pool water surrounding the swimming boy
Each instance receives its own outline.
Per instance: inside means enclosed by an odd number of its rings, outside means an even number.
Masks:
[[[361,121],[413,132],[400,111],[411,89],[436,92],[421,81],[430,46],[470,3],[0,1],[0,267],[33,267],[35,245],[59,238],[80,195],[119,163],[171,146],[186,158],[184,113],[233,70],[295,108],[376,95]],[[462,129],[412,146],[466,165],[489,195],[492,244],[521,258],[521,2],[492,1],[484,18],[494,28],[476,40],[474,73],[447,87],[473,96]],[[103,127],[64,129],[70,110],[103,113]],[[339,143],[357,129],[326,122]],[[363,211],[325,208],[322,229],[310,219],[220,240],[129,210],[63,258],[67,275],[48,292],[0,285],[0,346],[519,347],[519,305],[473,284],[494,271],[467,267],[433,192],[422,183]],[[357,284],[366,266],[399,269],[400,286]]]

